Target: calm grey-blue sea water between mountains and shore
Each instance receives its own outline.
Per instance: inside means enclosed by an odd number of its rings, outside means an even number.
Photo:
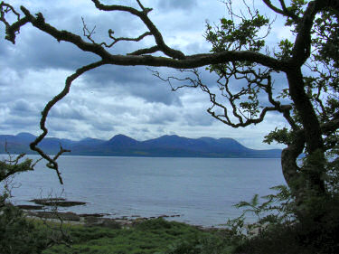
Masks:
[[[280,159],[63,156],[59,165],[63,186],[39,163],[34,172],[15,177],[21,186],[14,188],[13,201],[62,196],[89,202],[64,211],[112,218],[180,215],[174,220],[217,226],[240,215],[233,204],[285,183]]]

